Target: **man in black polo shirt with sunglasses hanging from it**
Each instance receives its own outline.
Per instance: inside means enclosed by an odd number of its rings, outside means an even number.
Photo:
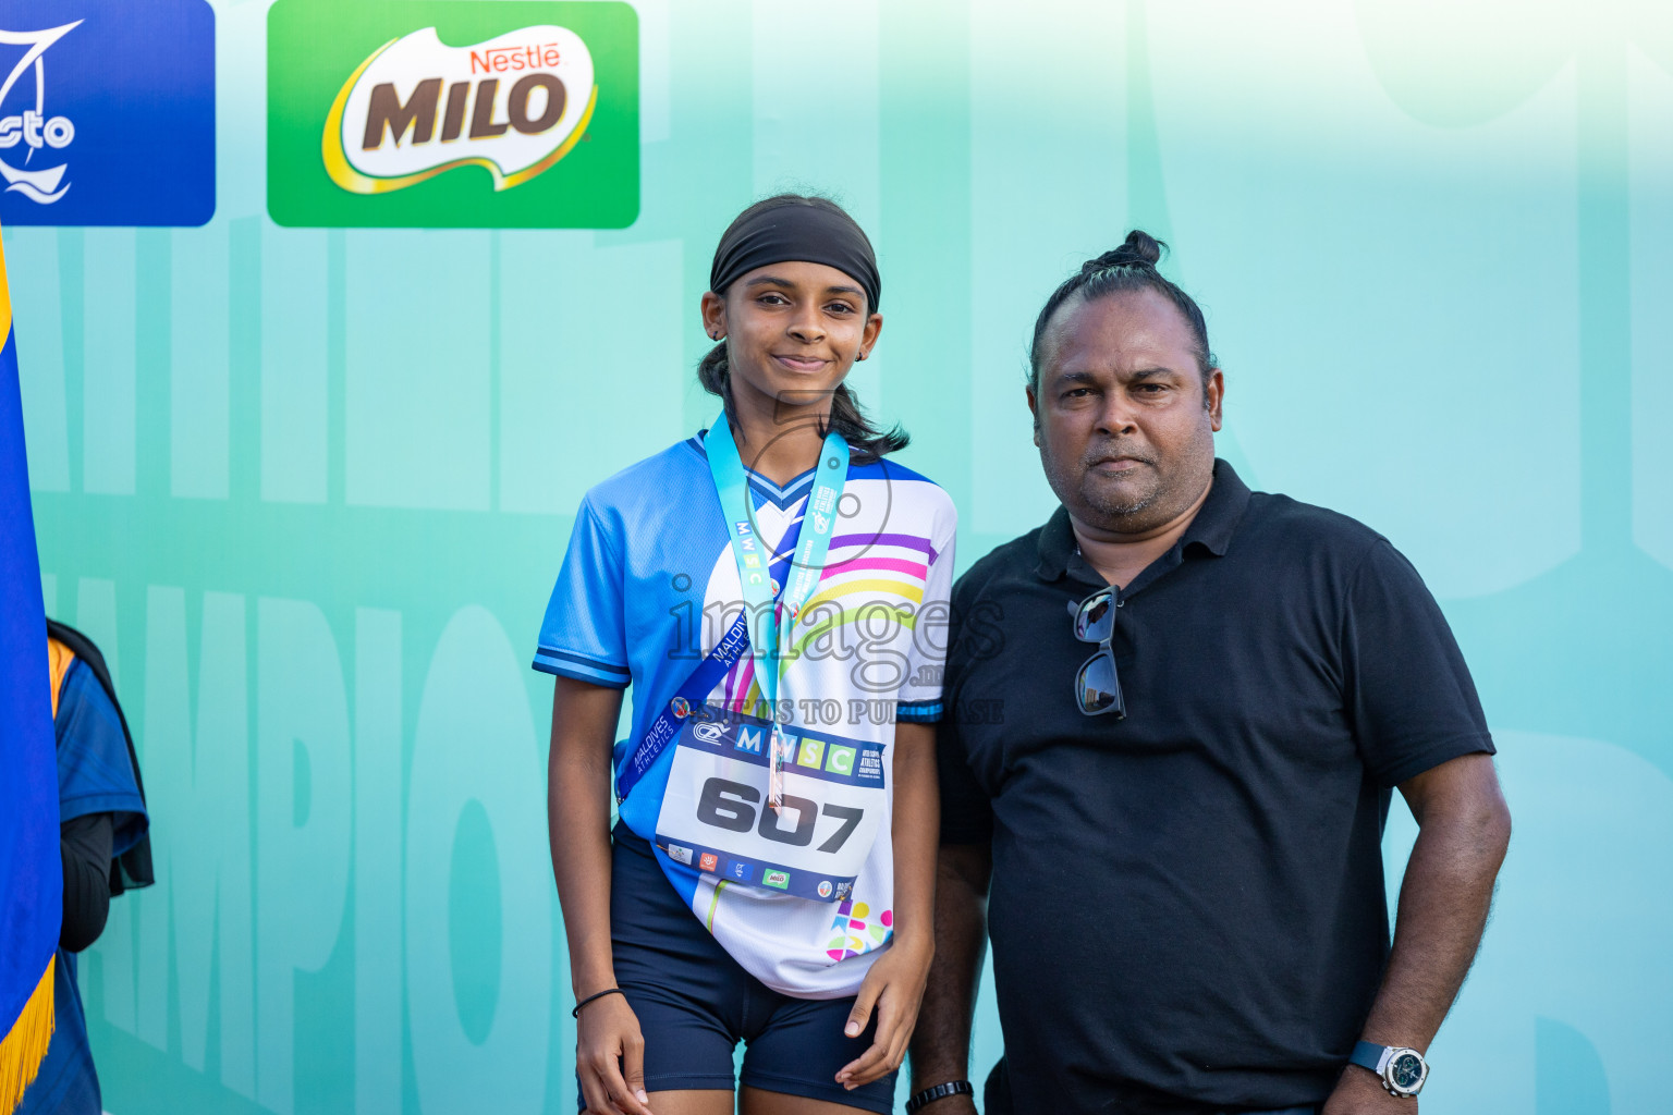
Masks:
[[[1409,1115],[1509,839],[1492,741],[1405,558],[1215,460],[1225,379],[1158,257],[1134,232],[1041,313],[1062,507],[954,588],[908,1110],[974,1110],[985,918],[989,1115]],[[1390,789],[1420,826],[1392,950]]]

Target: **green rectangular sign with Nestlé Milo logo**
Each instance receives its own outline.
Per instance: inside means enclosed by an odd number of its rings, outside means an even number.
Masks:
[[[279,0],[268,209],[291,226],[632,224],[637,52],[626,3]]]

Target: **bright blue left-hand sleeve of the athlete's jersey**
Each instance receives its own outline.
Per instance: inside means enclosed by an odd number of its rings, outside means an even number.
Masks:
[[[594,685],[626,689],[627,632],[622,597],[622,547],[589,495],[569,535],[564,568],[540,624],[534,669]]]

